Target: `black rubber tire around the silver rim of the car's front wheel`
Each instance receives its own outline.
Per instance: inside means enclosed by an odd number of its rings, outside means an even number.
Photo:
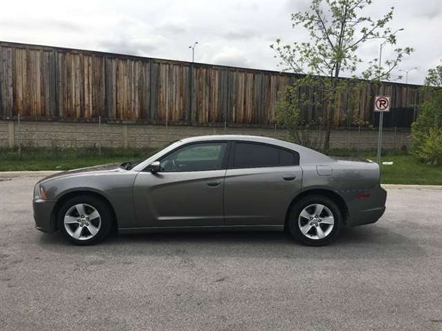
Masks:
[[[73,208],[73,206],[78,204],[86,204],[92,206],[99,213],[99,221],[101,221],[99,230],[90,239],[82,239],[82,240],[75,239],[68,233],[68,231],[65,228],[64,217],[66,215],[66,212],[68,212],[70,208]],[[95,245],[96,243],[99,243],[104,238],[106,238],[109,232],[111,231],[111,229],[113,228],[113,213],[111,212],[108,203],[106,203],[103,199],[99,199],[99,197],[95,197],[93,195],[81,194],[78,195],[77,197],[70,198],[65,203],[63,203],[58,213],[57,225],[59,230],[71,243],[75,245]],[[73,225],[69,225],[69,227],[71,230],[75,229],[76,224],[73,223]],[[84,232],[86,232],[86,235],[87,234],[92,235],[92,232],[89,232],[89,230],[83,230],[83,233]]]

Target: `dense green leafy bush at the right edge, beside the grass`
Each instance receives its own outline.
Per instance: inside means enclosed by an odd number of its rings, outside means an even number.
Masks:
[[[421,161],[442,164],[442,66],[428,70],[425,101],[412,124],[412,153]]]

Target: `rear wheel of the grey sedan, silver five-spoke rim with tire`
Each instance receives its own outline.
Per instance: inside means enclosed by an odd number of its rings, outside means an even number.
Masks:
[[[301,199],[291,208],[289,232],[301,243],[312,246],[327,245],[339,234],[343,217],[338,205],[322,196]]]

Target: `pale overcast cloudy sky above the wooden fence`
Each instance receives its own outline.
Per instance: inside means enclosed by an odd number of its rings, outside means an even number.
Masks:
[[[189,45],[198,41],[195,61],[227,66],[281,70],[269,45],[305,38],[292,29],[290,13],[307,10],[304,0],[126,0],[2,1],[0,40],[83,48],[164,59],[191,60]],[[400,68],[409,83],[422,83],[428,68],[441,64],[442,0],[374,0],[365,14],[378,17],[391,6],[390,27],[398,46],[416,51]],[[378,54],[378,41],[361,50]],[[392,48],[385,49],[385,57]],[[395,72],[396,76],[401,72]],[[405,77],[403,79],[405,81]]]

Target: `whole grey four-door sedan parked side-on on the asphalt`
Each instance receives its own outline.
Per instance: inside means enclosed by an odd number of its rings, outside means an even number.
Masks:
[[[287,141],[213,135],[171,143],[135,163],[69,170],[34,189],[36,228],[73,243],[120,233],[287,230],[325,245],[385,211],[376,163],[336,161]]]

